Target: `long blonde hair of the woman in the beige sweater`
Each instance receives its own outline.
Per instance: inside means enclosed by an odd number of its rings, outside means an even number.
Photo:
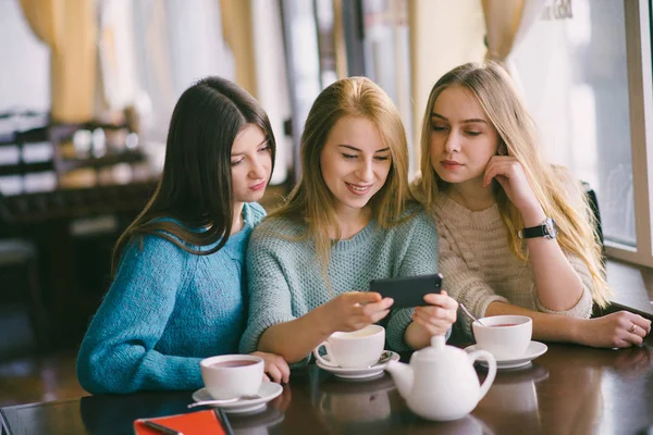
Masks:
[[[546,163],[537,144],[537,128],[525,104],[513,88],[512,79],[496,63],[467,63],[446,73],[431,89],[421,133],[421,176],[416,182],[415,192],[432,210],[440,191],[446,183],[431,165],[431,113],[440,94],[452,86],[469,89],[478,99],[490,122],[500,136],[500,149],[505,147],[508,156],[515,157],[542,206],[544,213],[558,225],[558,244],[563,250],[579,256],[592,276],[592,296],[600,307],[608,302],[609,288],[605,281],[601,246],[595,233],[595,217],[587,199],[583,210],[569,206],[574,197],[584,198],[580,183],[574,183],[577,191],[569,190],[560,171]],[[572,197],[574,196],[574,197]],[[517,232],[523,227],[521,213],[501,188],[495,190],[501,217],[508,229],[508,246],[517,258],[528,260],[522,240]],[[578,201],[576,201],[578,202]]]

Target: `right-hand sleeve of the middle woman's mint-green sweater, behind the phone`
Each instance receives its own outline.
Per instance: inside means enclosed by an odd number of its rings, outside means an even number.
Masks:
[[[438,231],[430,216],[420,212],[411,219],[408,237],[402,247],[404,252],[397,276],[416,276],[438,273]],[[404,339],[406,328],[412,322],[414,308],[395,309],[391,311],[387,323],[386,339],[390,348],[395,351],[411,350]],[[447,338],[448,335],[447,333]]]

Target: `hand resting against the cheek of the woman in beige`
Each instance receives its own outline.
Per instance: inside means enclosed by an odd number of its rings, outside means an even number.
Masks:
[[[494,156],[490,159],[483,176],[483,186],[488,187],[492,179],[501,184],[506,195],[521,213],[531,212],[541,206],[531,188],[519,161],[510,156]]]

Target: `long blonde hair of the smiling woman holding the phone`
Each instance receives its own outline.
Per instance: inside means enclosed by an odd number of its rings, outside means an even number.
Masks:
[[[315,241],[316,253],[324,270],[332,243],[340,240],[341,232],[334,198],[322,176],[320,156],[332,128],[345,116],[371,121],[379,128],[383,145],[390,148],[390,173],[383,187],[370,200],[377,223],[382,227],[396,225],[411,198],[406,132],[390,97],[366,77],[343,78],[322,90],[308,113],[301,135],[301,177],[281,208],[268,219],[285,216],[305,223],[305,237]],[[333,241],[329,229],[336,231],[337,237]]]

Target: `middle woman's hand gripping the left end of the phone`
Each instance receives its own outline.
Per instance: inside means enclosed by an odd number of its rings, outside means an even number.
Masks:
[[[385,318],[393,302],[374,291],[345,293],[323,306],[324,321],[334,332],[358,331]]]

